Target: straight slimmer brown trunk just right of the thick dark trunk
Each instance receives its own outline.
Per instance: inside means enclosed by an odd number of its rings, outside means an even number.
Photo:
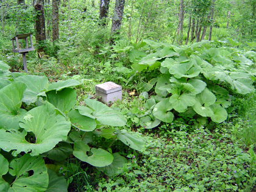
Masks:
[[[60,0],[52,0],[52,42],[59,39],[59,4]]]

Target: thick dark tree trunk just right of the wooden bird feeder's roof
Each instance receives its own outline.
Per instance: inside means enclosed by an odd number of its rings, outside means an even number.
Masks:
[[[34,0],[34,8],[37,13],[35,18],[35,40],[38,43],[37,52],[43,52],[45,35],[45,21],[44,21],[44,2],[43,0]]]

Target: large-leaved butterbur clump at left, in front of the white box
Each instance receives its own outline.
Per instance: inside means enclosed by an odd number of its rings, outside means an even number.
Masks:
[[[112,154],[111,145],[91,148],[94,136],[143,150],[142,138],[114,128],[126,125],[121,113],[92,99],[85,99],[86,106],[76,106],[72,87],[79,81],[49,84],[47,77],[8,69],[0,63],[1,191],[66,191],[57,166],[45,165],[44,160],[63,163],[72,154],[109,176],[116,174],[126,158],[118,152]]]

